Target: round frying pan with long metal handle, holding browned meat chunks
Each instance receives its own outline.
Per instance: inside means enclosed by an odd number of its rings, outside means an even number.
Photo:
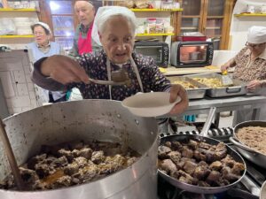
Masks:
[[[165,142],[174,142],[174,141],[184,142],[184,141],[188,141],[190,139],[198,140],[200,142],[206,142],[206,143],[211,144],[211,145],[217,145],[218,143],[220,143],[220,141],[217,141],[215,139],[207,137],[207,131],[208,131],[209,126],[211,125],[211,121],[214,118],[214,116],[215,116],[215,107],[210,109],[210,111],[208,113],[208,116],[207,116],[206,123],[203,126],[203,129],[202,129],[200,135],[195,135],[195,134],[168,134],[168,135],[161,135],[161,137],[160,137],[160,145],[165,143]],[[235,161],[245,165],[245,168],[246,168],[245,161],[239,155],[238,152],[236,152],[234,149],[231,149],[231,147],[228,146],[228,145],[226,145],[226,149],[227,149],[227,154],[231,155],[231,157]],[[182,181],[176,180],[175,178],[169,176],[165,172],[161,172],[160,170],[159,170],[158,173],[160,174],[160,176],[164,180],[168,181],[170,184],[172,184],[176,188],[181,188],[183,190],[190,191],[190,192],[193,192],[193,193],[198,193],[198,194],[216,194],[216,193],[220,193],[220,192],[226,191],[226,190],[234,187],[236,184],[238,184],[239,181],[245,175],[246,169],[242,173],[242,176],[241,176],[241,178],[239,180],[237,180],[237,181],[235,181],[235,182],[233,182],[233,183],[231,183],[231,184],[229,184],[227,186],[223,186],[223,187],[200,187],[200,186],[195,186],[195,185],[187,184],[187,183],[184,183]]]

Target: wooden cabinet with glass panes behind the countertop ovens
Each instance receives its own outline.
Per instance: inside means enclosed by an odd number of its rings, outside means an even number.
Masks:
[[[215,42],[215,49],[227,49],[232,0],[180,0],[184,11],[178,34],[200,32]]]

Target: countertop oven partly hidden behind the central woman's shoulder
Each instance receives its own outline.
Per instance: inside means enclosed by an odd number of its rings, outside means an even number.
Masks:
[[[166,42],[135,42],[134,50],[145,56],[153,57],[160,67],[168,67],[169,48]]]

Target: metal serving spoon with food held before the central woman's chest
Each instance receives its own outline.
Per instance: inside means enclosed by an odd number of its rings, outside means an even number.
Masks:
[[[89,80],[96,84],[113,86],[129,85],[131,83],[129,79],[129,73],[127,73],[127,71],[125,71],[123,68],[111,72],[111,80],[95,80],[91,78],[89,78]]]

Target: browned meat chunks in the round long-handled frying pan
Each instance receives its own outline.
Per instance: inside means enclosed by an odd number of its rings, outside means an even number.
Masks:
[[[223,142],[165,142],[158,149],[159,169],[180,182],[200,187],[223,187],[241,178],[245,165],[227,154]]]

